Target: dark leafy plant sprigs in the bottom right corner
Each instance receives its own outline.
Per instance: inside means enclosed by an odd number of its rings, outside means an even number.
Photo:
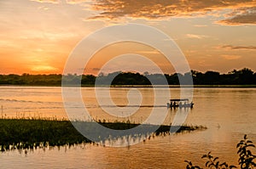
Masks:
[[[247,135],[236,145],[237,155],[239,156],[238,164],[241,169],[253,169],[256,166],[256,155],[253,155],[250,149],[255,148],[251,140],[248,140]],[[227,162],[220,162],[218,157],[213,157],[211,152],[203,155],[201,158],[207,159],[206,167],[212,169],[230,169],[237,168],[237,166],[229,165]],[[191,161],[185,161],[187,169],[202,169],[201,166],[194,166]]]

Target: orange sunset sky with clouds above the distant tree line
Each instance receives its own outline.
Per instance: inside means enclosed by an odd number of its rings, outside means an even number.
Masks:
[[[172,37],[192,70],[256,70],[255,0],[6,0],[0,1],[0,74],[62,73],[84,37],[125,23],[150,25]],[[154,56],[173,73],[154,48],[128,43],[102,49],[86,73],[96,74],[104,58],[127,53]],[[143,70],[154,73],[147,65]]]

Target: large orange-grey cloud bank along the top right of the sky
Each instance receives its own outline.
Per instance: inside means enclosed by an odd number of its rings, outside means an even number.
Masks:
[[[98,11],[91,19],[119,20],[121,17],[148,20],[177,16],[215,14],[222,9],[252,8],[254,0],[96,0],[93,9]]]

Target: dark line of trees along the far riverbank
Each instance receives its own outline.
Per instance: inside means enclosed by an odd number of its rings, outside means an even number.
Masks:
[[[100,74],[93,75],[66,75],[51,74],[51,75],[0,75],[0,85],[29,85],[29,86],[61,86],[63,77],[63,84],[78,85],[81,82],[82,86],[98,85],[151,85],[148,79],[154,85],[166,84],[179,85],[179,80],[182,84],[189,84],[189,77],[192,76],[194,85],[256,85],[256,72],[244,68],[241,70],[232,70],[226,74],[220,74],[217,71],[207,71],[201,73],[199,71],[191,70],[191,72],[180,74],[174,73],[172,75],[148,74],[143,75],[131,72],[113,72],[108,75]],[[113,79],[113,82],[109,82]]]

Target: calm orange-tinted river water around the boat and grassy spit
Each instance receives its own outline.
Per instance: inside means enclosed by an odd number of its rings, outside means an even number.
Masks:
[[[179,88],[156,90],[158,93],[170,92],[172,99],[180,94]],[[190,90],[187,92],[192,94]],[[70,115],[64,109],[61,87],[0,87],[0,113],[3,117],[61,119],[69,116],[88,120],[89,115],[80,113],[86,109],[97,120],[143,122],[156,109],[156,112],[166,111],[166,124],[170,124],[178,113],[183,113],[167,110],[168,100],[164,97],[160,98],[162,103],[155,104],[154,99],[159,96],[155,96],[153,88],[149,87],[111,88],[111,99],[120,110],[109,104],[103,95],[100,106],[93,87],[83,87],[81,93],[84,107],[73,104],[71,109],[78,114]],[[76,103],[76,99],[73,100]],[[0,155],[1,168],[185,168],[185,160],[203,166],[201,155],[208,151],[218,155],[220,161],[237,164],[236,144],[243,135],[247,134],[256,143],[256,88],[194,88],[193,102],[192,110],[182,110],[186,111],[185,115],[189,113],[184,124],[203,125],[207,127],[205,131],[154,137],[129,148],[85,144],[26,153],[24,150],[8,151]],[[155,119],[159,118],[155,115]]]

